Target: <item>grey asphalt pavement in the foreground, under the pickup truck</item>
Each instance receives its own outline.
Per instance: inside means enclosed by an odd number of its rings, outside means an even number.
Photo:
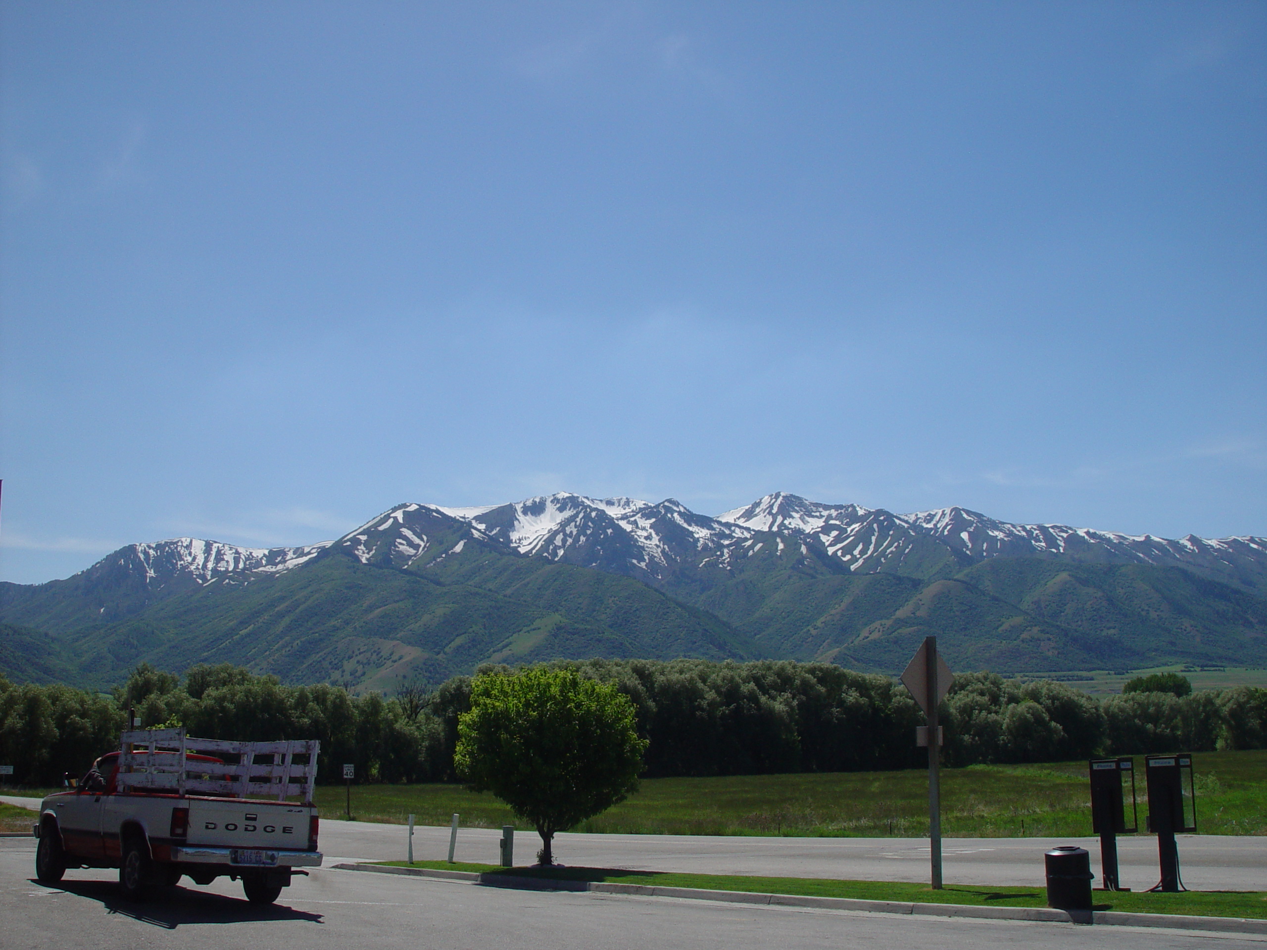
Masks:
[[[865,947],[1115,950],[1261,946],[1267,940],[1156,928],[915,918],[566,892],[504,890],[464,883],[313,871],[256,907],[229,882],[177,887],[147,903],[124,901],[109,870],[67,871],[57,887],[34,880],[33,839],[0,839],[0,946],[242,947]]]

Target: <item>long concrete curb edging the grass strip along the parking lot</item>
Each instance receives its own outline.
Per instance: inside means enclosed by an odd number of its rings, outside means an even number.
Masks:
[[[338,870],[400,874],[411,878],[464,880],[484,887],[517,890],[571,890],[598,894],[634,894],[639,897],[677,897],[689,901],[722,901],[739,904],[774,907],[813,907],[824,911],[865,911],[870,913],[906,913],[921,917],[978,917],[996,921],[1045,921],[1050,923],[1098,923],[1116,927],[1167,927],[1202,930],[1220,934],[1254,934],[1267,936],[1267,920],[1245,917],[1196,917],[1176,913],[1125,913],[1120,911],[1057,911],[1053,907],[973,907],[972,904],[930,904],[907,901],[862,901],[850,897],[799,897],[797,894],[759,894],[748,890],[707,890],[704,888],[670,888],[654,884],[614,884],[588,880],[544,880],[508,874],[476,874],[431,868],[390,868],[374,864],[336,864]]]

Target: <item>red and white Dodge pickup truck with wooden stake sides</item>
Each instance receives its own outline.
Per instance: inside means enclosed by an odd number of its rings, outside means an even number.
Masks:
[[[53,884],[67,868],[118,868],[124,894],[144,899],[181,875],[228,875],[252,903],[272,903],[307,873],[296,868],[321,865],[318,749],[125,731],[118,752],[41,804],[35,877]]]

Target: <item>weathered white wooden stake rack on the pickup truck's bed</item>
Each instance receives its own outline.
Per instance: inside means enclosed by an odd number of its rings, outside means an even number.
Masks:
[[[233,742],[195,738],[185,730],[124,730],[119,792],[166,792],[220,798],[276,798],[302,795],[312,804],[317,783],[315,738],[281,742]],[[190,755],[228,759],[223,765],[190,760]],[[236,763],[232,760],[237,759]],[[258,760],[265,761],[258,761]],[[300,761],[295,761],[299,759]]]

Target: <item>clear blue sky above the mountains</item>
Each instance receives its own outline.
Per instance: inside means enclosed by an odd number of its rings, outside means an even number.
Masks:
[[[0,578],[555,490],[1267,535],[1261,3],[0,27]]]

